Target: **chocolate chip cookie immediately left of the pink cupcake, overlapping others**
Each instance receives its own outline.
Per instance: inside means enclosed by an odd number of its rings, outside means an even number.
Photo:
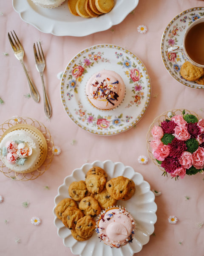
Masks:
[[[77,221],[75,230],[77,234],[88,239],[94,233],[96,221],[90,215],[84,216]]]

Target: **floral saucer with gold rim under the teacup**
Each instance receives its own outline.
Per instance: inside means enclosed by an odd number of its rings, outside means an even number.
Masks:
[[[194,81],[187,81],[180,74],[182,64],[187,61],[184,54],[168,52],[167,49],[173,45],[181,45],[187,27],[201,17],[204,17],[204,7],[191,8],[181,12],[168,24],[161,38],[161,57],[170,75],[181,84],[198,89],[204,89],[204,86]]]

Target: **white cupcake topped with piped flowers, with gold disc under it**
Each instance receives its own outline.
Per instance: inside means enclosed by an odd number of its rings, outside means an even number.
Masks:
[[[12,128],[14,130],[5,132],[0,140],[0,159],[14,172],[28,173],[36,170],[47,156],[45,137],[30,125],[16,125]]]

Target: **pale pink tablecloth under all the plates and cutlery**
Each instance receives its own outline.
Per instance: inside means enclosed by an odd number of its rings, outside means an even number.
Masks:
[[[63,245],[54,226],[54,197],[67,175],[95,160],[132,166],[150,183],[151,189],[161,192],[155,199],[158,210],[154,235],[136,255],[204,255],[204,176],[197,174],[175,181],[161,176],[152,160],[146,165],[137,161],[140,155],[148,157],[146,134],[153,119],[162,112],[187,108],[204,118],[204,90],[185,87],[173,79],[164,67],[160,50],[161,36],[170,20],[186,9],[203,4],[202,0],[140,0],[122,23],[80,38],[42,33],[20,19],[11,1],[0,1],[0,98],[4,101],[0,105],[0,123],[12,116],[37,119],[61,148],[61,154],[54,156],[48,171],[36,180],[17,181],[0,173],[0,195],[4,198],[0,203],[0,255],[73,255]],[[142,24],[148,28],[146,34],[137,31],[137,26]],[[29,93],[26,76],[7,37],[13,29],[26,49],[25,62],[40,91],[38,104],[26,97]],[[32,52],[33,42],[38,40],[43,44],[47,61],[45,81],[53,108],[50,120],[44,114],[41,80]],[[120,45],[137,55],[147,68],[152,90],[147,111],[136,127],[108,137],[88,133],[69,118],[62,105],[57,78],[74,55],[103,43]],[[28,202],[27,208],[23,202]],[[168,223],[170,215],[178,218],[175,225]],[[31,224],[34,216],[41,219],[38,227]]]

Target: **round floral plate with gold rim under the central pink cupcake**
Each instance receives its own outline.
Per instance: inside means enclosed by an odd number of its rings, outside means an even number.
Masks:
[[[99,110],[88,101],[85,86],[100,70],[113,70],[126,85],[123,102],[112,110]],[[65,111],[81,128],[93,134],[113,135],[133,127],[150,101],[150,79],[144,64],[119,46],[100,44],[79,52],[62,76],[61,97]]]

